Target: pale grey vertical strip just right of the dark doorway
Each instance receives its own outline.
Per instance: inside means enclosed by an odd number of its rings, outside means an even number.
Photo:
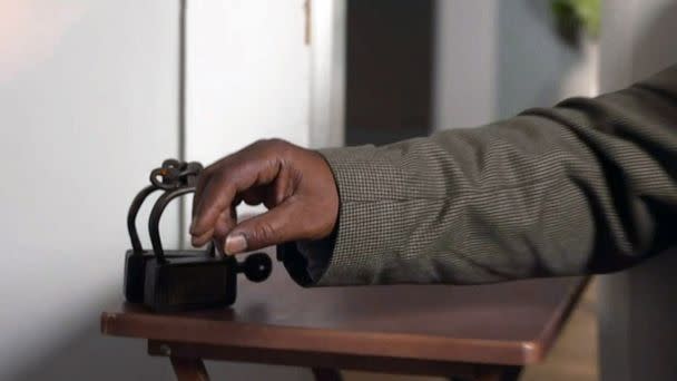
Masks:
[[[496,109],[498,2],[438,0],[433,126],[480,126]]]

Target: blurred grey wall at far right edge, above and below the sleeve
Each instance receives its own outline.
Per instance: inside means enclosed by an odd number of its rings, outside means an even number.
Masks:
[[[600,84],[610,91],[677,63],[677,2],[606,0]],[[601,277],[602,380],[677,379],[676,251]]]

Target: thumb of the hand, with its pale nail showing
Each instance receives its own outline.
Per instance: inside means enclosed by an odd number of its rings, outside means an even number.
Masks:
[[[287,202],[243,221],[226,236],[224,253],[234,255],[300,240],[303,218],[297,218],[296,214],[297,207]]]

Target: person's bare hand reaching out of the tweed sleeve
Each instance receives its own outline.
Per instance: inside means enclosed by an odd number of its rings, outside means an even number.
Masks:
[[[268,212],[237,223],[235,206]],[[214,241],[226,254],[332,234],[338,192],[328,164],[314,150],[261,140],[205,168],[193,201],[193,245]]]

